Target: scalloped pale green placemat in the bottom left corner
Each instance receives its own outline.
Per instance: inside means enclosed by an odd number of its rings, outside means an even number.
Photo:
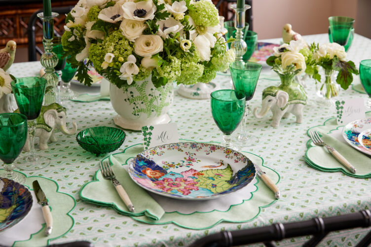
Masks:
[[[2,170],[2,169],[1,169]],[[18,172],[18,171],[14,171]],[[25,241],[15,241],[14,247],[43,247],[49,245],[50,241],[59,239],[66,235],[74,226],[74,218],[70,214],[76,206],[76,201],[71,195],[60,192],[59,185],[56,181],[42,177],[42,176],[27,176],[24,173],[18,172],[26,176],[26,182],[24,185],[29,187],[30,190],[34,190],[32,182],[37,179],[40,187],[45,192],[47,199],[49,200],[49,206],[51,207],[51,214],[53,216],[53,231],[49,236],[44,235],[46,224],[43,223],[40,229],[31,234],[30,238]],[[6,234],[6,232],[4,233]],[[0,241],[1,242],[1,241]]]

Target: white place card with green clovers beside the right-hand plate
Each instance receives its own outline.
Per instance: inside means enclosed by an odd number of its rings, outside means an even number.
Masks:
[[[336,121],[344,125],[351,121],[366,117],[364,99],[347,99],[336,101]]]

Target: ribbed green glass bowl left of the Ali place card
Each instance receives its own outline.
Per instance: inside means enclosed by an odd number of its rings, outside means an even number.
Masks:
[[[80,131],[76,135],[76,141],[86,151],[99,156],[119,148],[124,142],[125,136],[123,130],[101,126]]]

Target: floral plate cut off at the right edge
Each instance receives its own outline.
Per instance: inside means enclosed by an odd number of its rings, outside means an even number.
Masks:
[[[348,123],[343,129],[343,138],[352,147],[371,155],[371,117]]]

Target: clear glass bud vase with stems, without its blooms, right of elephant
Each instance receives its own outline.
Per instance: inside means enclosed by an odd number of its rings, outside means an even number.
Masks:
[[[334,97],[339,95],[340,85],[336,83],[337,71],[325,70],[325,76],[322,77],[322,81],[317,83],[317,96],[319,99],[317,103],[323,106],[334,106]]]

